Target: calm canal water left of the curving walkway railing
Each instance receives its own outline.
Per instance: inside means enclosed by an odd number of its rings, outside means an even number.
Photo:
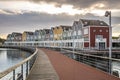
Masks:
[[[30,55],[29,52],[21,51],[19,49],[0,48],[0,72],[14,66]],[[2,80],[7,79],[3,78]]]

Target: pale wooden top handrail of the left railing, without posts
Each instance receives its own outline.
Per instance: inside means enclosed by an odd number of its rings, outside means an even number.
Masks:
[[[38,49],[36,48],[36,51],[31,55],[29,56],[28,58],[24,59],[23,61],[21,61],[20,63],[14,65],[13,67],[10,67],[8,69],[6,69],[5,71],[3,72],[0,72],[0,79],[4,76],[6,76],[8,73],[12,72],[13,70],[15,70],[17,67],[21,66],[22,64],[26,63],[27,61],[29,61],[32,57],[34,57],[38,52]]]

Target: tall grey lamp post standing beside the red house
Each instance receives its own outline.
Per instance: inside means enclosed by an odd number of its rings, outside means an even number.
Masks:
[[[112,27],[111,27],[111,11],[106,11],[105,13],[105,17],[109,17],[109,73],[112,74],[112,52],[111,52],[111,48],[112,48]]]

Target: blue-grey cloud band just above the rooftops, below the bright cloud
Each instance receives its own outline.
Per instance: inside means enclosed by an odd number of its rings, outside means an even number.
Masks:
[[[75,20],[79,20],[80,18],[108,21],[108,18],[94,16],[90,13],[74,16],[67,14],[50,15],[47,13],[24,13],[18,15],[0,14],[0,32],[11,33],[14,31],[23,32],[24,30],[34,31],[35,29],[51,28],[58,25],[72,25]],[[120,17],[112,17],[112,25],[119,24],[119,21]]]

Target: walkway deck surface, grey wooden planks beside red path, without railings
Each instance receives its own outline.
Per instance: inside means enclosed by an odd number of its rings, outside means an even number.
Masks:
[[[39,49],[27,80],[120,80],[57,51]]]

